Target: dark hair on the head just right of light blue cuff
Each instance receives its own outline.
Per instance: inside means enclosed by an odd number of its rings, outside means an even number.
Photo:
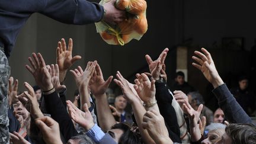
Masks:
[[[119,139],[119,144],[143,143],[140,134],[133,132],[131,127],[126,123],[114,124],[112,129],[121,129],[124,132]]]

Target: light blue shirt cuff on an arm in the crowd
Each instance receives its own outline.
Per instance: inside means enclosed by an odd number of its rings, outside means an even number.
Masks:
[[[105,133],[97,124],[94,124],[94,126],[91,129],[89,129],[86,135],[90,137],[92,140],[94,140],[95,143],[98,143],[105,136]]]

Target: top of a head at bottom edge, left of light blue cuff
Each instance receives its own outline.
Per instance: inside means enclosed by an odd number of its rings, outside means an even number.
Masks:
[[[71,137],[67,144],[95,144],[87,135],[77,135]]]

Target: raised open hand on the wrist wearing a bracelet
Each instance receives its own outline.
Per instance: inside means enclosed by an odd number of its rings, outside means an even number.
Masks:
[[[145,73],[136,74],[137,79],[135,79],[135,90],[139,95],[140,99],[145,104],[152,104],[155,102],[155,80],[149,81],[148,76]]]

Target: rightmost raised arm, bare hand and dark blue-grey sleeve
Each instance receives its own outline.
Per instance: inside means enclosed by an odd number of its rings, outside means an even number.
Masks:
[[[197,62],[192,63],[192,65],[199,69],[203,73],[204,77],[215,88],[213,89],[213,93],[215,94],[219,107],[223,110],[227,120],[231,123],[252,123],[251,118],[237,103],[228,87],[226,87],[220,78],[210,53],[204,48],[201,48],[201,51],[203,53],[198,51],[194,52],[198,57],[192,57],[192,59]]]

